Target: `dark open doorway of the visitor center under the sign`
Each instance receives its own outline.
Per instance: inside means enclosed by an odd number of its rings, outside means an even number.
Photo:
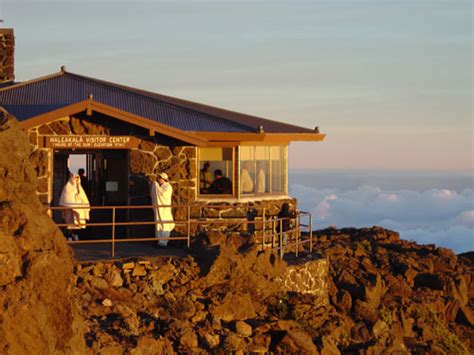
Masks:
[[[54,152],[53,206],[58,206],[61,191],[67,183],[69,173],[85,170],[82,180],[91,207],[128,206],[129,199],[129,151],[128,150],[58,150]],[[116,222],[128,221],[128,209],[117,209]],[[61,213],[54,213],[61,223]],[[111,209],[92,209],[90,223],[112,222]],[[110,226],[91,226],[81,232],[82,236],[94,239],[110,238]],[[117,237],[126,237],[128,228],[116,227]],[[81,237],[82,237],[81,236]]]

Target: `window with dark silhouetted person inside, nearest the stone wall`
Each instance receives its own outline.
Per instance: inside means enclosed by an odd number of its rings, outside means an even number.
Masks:
[[[233,148],[199,149],[199,192],[201,195],[233,193]]]

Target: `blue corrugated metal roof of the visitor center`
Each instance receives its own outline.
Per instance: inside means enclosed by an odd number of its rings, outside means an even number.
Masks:
[[[245,115],[68,72],[0,88],[0,106],[25,121],[87,100],[183,131],[314,133],[313,130]]]

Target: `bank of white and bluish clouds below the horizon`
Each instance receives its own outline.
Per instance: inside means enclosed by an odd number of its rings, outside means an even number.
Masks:
[[[317,228],[329,225],[380,225],[404,239],[436,244],[456,253],[474,250],[474,190],[385,190],[360,185],[350,189],[317,189],[290,184],[299,208],[313,213]]]

